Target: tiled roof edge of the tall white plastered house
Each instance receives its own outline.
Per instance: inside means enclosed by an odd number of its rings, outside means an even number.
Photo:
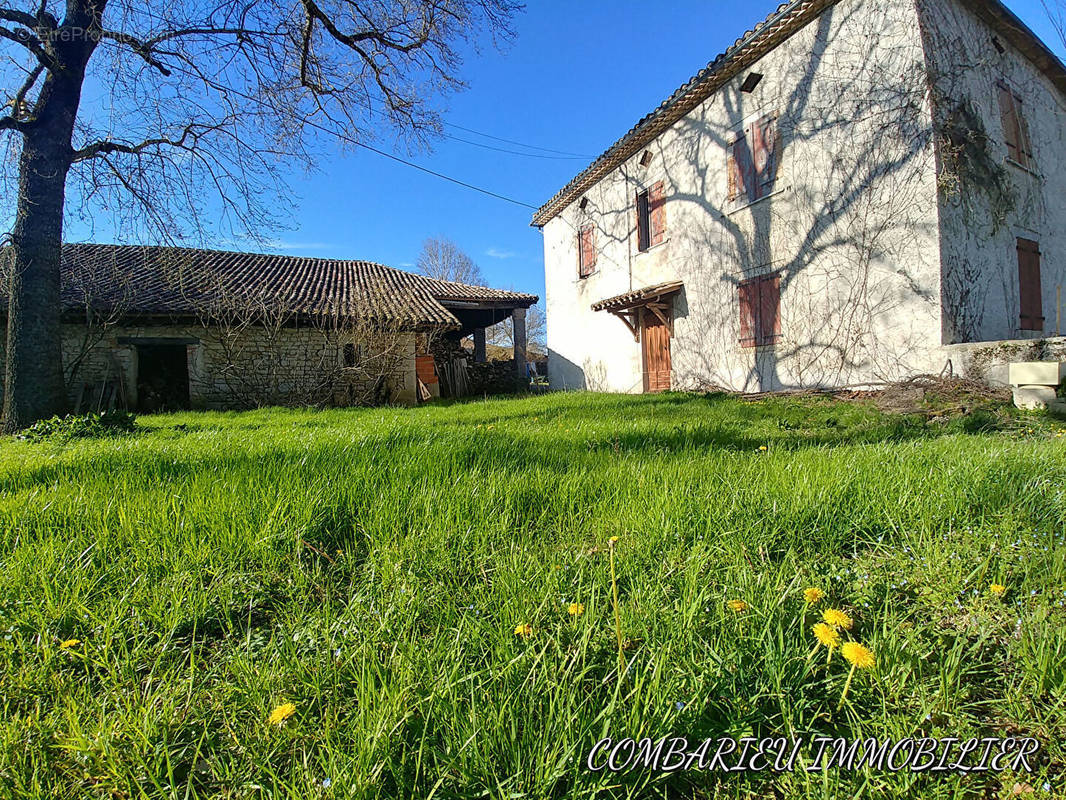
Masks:
[[[674,94],[643,116],[621,139],[608,147],[592,164],[545,203],[533,214],[532,224],[542,227],[583,192],[640,153],[674,123],[695,109],[720,86],[754,64],[838,0],[790,0],[738,38],[724,52]],[[1000,31],[1066,94],[1066,66],[1001,0],[964,0],[987,25]]]

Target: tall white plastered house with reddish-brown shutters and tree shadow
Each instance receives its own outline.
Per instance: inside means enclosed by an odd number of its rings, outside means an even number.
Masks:
[[[1066,67],[998,0],[794,0],[534,215],[554,388],[1061,351]]]

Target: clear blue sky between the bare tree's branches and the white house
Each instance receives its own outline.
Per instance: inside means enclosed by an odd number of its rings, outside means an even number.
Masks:
[[[1007,4],[1056,52],[1040,0]],[[537,206],[777,2],[528,0],[503,52],[470,55],[469,87],[446,122],[585,158],[533,158],[442,140],[409,157],[424,166]],[[522,149],[457,127],[449,134]],[[377,143],[392,151],[393,142]],[[404,150],[398,155],[408,158]],[[552,155],[552,154],[543,154]],[[319,174],[293,175],[297,212],[270,250],[413,268],[422,240],[455,240],[495,286],[544,295],[540,233],[528,208],[486,197],[378,155],[338,146]],[[77,231],[69,230],[77,238]]]

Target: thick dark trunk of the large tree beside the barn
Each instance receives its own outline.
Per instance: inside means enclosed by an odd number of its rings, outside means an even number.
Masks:
[[[67,158],[43,130],[26,137],[7,286],[4,431],[66,410],[60,329],[60,252]],[[38,140],[38,141],[34,141]]]

